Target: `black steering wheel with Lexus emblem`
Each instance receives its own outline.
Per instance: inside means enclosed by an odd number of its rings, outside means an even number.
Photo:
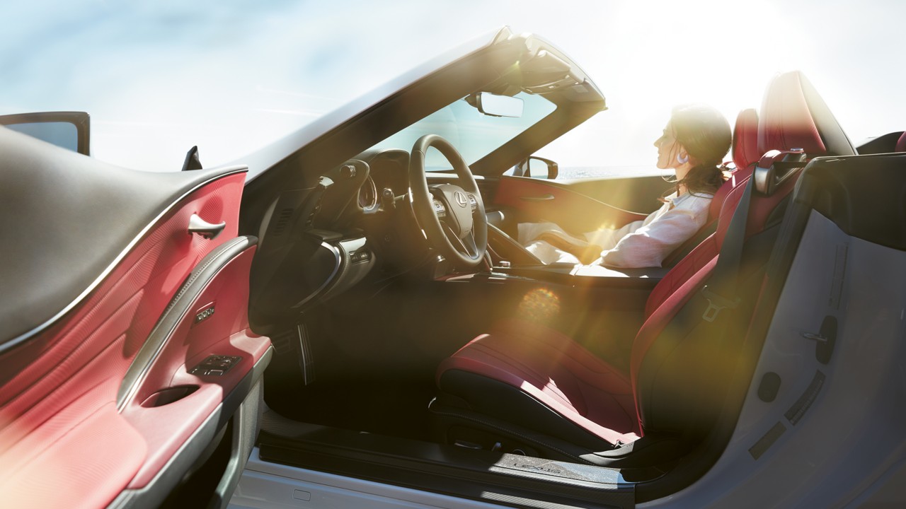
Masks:
[[[425,154],[438,149],[453,165],[458,186],[428,186]],[[459,269],[471,269],[487,252],[487,216],[472,171],[457,149],[436,134],[426,134],[412,146],[409,159],[412,210],[428,242]]]

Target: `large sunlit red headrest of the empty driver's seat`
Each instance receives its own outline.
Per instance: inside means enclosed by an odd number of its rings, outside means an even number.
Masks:
[[[853,143],[802,72],[778,74],[767,86],[758,150],[805,149],[814,156],[852,156]]]

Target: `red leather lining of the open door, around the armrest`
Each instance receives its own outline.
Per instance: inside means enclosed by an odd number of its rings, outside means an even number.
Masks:
[[[166,417],[184,420],[182,430],[169,443],[162,443],[158,439],[162,428],[156,427],[158,417],[165,416],[137,418],[135,412],[120,413],[117,393],[187,275],[218,245],[236,237],[244,179],[244,173],[226,174],[179,199],[81,303],[0,355],[0,496],[4,504],[110,504],[127,485],[140,484],[136,474],[155,475],[169,451],[178,447],[176,442],[190,434],[195,420],[171,413]],[[226,228],[213,239],[190,235],[187,226],[193,214],[209,223],[226,222]],[[247,330],[243,314],[253,253],[254,247],[247,249],[221,271],[224,283],[218,288],[228,286],[236,292],[226,306],[233,308],[225,328],[231,331],[201,341],[192,353],[220,341],[232,345],[227,351],[250,351],[244,353],[250,364],[266,350],[269,341]],[[237,369],[231,376],[241,378],[241,372]],[[199,388],[195,401],[204,398],[207,405],[198,404],[195,413],[200,416],[216,408],[231,383],[232,379],[224,379]]]

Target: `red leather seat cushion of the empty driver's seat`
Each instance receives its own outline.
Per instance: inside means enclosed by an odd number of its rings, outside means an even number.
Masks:
[[[471,388],[455,371],[495,379],[521,390],[596,437],[615,444],[639,437],[639,421],[629,379],[564,334],[534,322],[497,322],[440,365],[438,387],[469,401]],[[506,401],[496,408],[473,408],[507,416]],[[531,427],[532,423],[528,423]],[[544,432],[544,429],[538,429]]]

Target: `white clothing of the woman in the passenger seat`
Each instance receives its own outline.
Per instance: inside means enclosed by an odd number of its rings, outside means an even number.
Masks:
[[[674,193],[666,198],[663,206],[640,221],[617,229],[589,232],[583,238],[567,234],[554,223],[520,223],[518,240],[545,264],[581,263],[576,255],[538,238],[555,235],[559,242],[579,250],[591,248],[597,251],[600,246],[600,257],[593,264],[623,268],[660,267],[667,255],[705,226],[712,197],[698,193],[684,193],[678,197]]]

